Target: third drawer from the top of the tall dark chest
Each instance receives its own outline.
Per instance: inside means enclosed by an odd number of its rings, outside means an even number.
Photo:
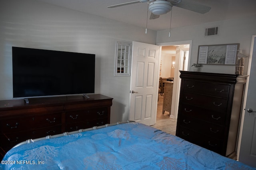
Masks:
[[[212,111],[188,104],[180,104],[179,114],[195,117],[201,119],[202,121],[209,121],[218,125],[225,125],[226,122],[226,113]]]

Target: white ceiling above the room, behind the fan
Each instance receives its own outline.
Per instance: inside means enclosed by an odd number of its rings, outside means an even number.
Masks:
[[[107,6],[131,2],[134,0],[38,0],[110,18],[112,20],[123,21],[125,23],[146,27],[147,3],[130,4],[117,8],[107,8]],[[193,2],[209,6],[212,9],[206,14],[198,14],[178,7],[172,8],[172,28],[200,23],[229,20],[256,14],[256,0],[192,0]],[[155,20],[148,20],[148,29],[164,30],[170,29],[170,12],[161,15]],[[150,14],[149,14],[150,16]],[[216,25],[212,25],[216,26]]]

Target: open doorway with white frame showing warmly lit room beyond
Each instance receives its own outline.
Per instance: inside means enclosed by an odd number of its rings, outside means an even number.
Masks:
[[[190,63],[192,41],[180,41],[170,43],[160,43],[162,48],[160,53],[160,74],[159,77],[163,81],[173,79],[171,111],[164,111],[163,100],[164,93],[159,94],[156,124],[154,127],[175,135],[176,119],[178,117],[178,101],[180,96],[180,72],[179,70],[188,70],[188,63]]]

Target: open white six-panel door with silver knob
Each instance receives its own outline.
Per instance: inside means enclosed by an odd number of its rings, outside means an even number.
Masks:
[[[158,98],[159,46],[132,42],[129,119],[154,125]]]

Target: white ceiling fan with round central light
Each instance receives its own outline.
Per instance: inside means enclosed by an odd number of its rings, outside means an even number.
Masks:
[[[148,10],[151,12],[150,20],[159,18],[160,15],[170,12],[172,10],[172,6],[184,8],[186,10],[194,11],[200,14],[205,14],[211,9],[211,7],[191,2],[191,0],[136,0],[132,2],[108,6],[108,8],[116,8],[119,6],[136,4],[140,2],[148,2]]]

